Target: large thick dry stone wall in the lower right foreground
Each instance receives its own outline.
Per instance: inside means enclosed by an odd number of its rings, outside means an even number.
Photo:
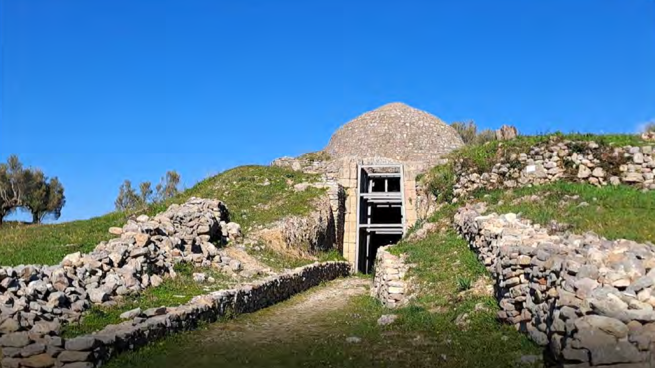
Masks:
[[[495,280],[498,317],[565,367],[655,363],[653,244],[550,235],[513,213],[460,208],[455,226]]]

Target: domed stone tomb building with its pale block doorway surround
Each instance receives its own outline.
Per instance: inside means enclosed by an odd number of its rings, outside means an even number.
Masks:
[[[358,165],[402,165],[405,227],[409,228],[418,217],[417,175],[443,164],[443,156],[463,144],[457,132],[437,117],[403,103],[390,103],[337,130],[325,149],[330,160],[283,157],[272,165],[321,175],[322,183],[331,187],[337,240],[343,239],[339,242],[343,256],[354,263]]]

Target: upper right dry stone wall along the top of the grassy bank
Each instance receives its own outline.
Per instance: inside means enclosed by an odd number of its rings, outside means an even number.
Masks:
[[[502,148],[501,148],[502,150]],[[556,141],[534,145],[526,153],[501,156],[488,172],[454,162],[456,196],[476,189],[540,185],[559,180],[593,185],[635,185],[655,189],[655,159],[652,146],[609,147],[593,141]]]

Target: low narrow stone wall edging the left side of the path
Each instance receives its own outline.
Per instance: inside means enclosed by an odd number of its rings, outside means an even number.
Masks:
[[[346,262],[315,263],[271,276],[238,289],[215,291],[171,308],[134,311],[134,317],[90,335],[63,339],[54,331],[10,333],[0,338],[3,368],[100,367],[111,357],[166,335],[194,329],[199,322],[254,312],[322,282],[350,274]]]

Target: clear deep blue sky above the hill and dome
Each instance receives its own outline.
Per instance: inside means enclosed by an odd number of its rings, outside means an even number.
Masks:
[[[324,147],[403,101],[451,122],[634,132],[655,118],[655,2],[2,0],[0,160],[64,183],[187,186]]]

